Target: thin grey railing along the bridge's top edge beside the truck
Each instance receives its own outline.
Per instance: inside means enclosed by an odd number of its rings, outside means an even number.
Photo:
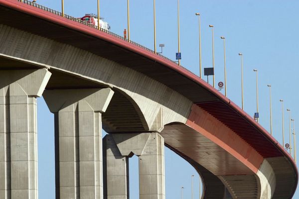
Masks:
[[[25,4],[32,5],[32,6],[34,6],[34,7],[39,8],[39,9],[42,9],[42,10],[51,12],[51,13],[53,13],[53,14],[62,16],[62,13],[61,13],[61,12],[56,11],[56,10],[51,9],[51,8],[48,8],[48,7],[46,7],[46,6],[40,5],[40,4],[36,3],[36,2],[32,2],[32,1],[29,1],[29,0],[17,0],[17,1],[23,2],[23,3],[25,3]],[[170,61],[170,62],[173,62],[173,63],[177,64],[175,61],[173,61],[173,60],[171,60],[171,59],[169,59],[169,58],[167,58],[167,57],[161,55],[160,53],[155,53],[153,50],[151,50],[151,49],[149,49],[149,48],[147,48],[147,47],[145,47],[145,46],[143,46],[143,45],[140,45],[139,43],[136,43],[136,42],[134,42],[134,41],[131,41],[131,40],[129,41],[128,39],[125,39],[125,37],[122,37],[122,36],[120,36],[120,35],[118,35],[118,34],[116,34],[116,33],[114,33],[114,32],[108,31],[108,30],[103,29],[103,28],[98,29],[98,27],[95,26],[95,25],[92,25],[92,24],[90,24],[90,23],[88,23],[88,22],[86,22],[86,21],[81,20],[80,18],[76,18],[76,17],[70,16],[70,15],[67,15],[67,14],[64,14],[64,17],[67,18],[67,19],[69,19],[69,20],[76,21],[76,22],[78,22],[78,23],[82,23],[82,24],[87,25],[87,26],[89,26],[89,27],[95,28],[95,29],[97,29],[97,30],[99,30],[99,31],[102,31],[102,32],[106,32],[106,33],[108,33],[108,34],[111,34],[111,35],[113,35],[113,36],[115,36],[115,37],[117,37],[117,38],[123,39],[123,40],[125,40],[125,41],[127,41],[127,42],[129,42],[129,43],[132,43],[132,44],[134,44],[134,45],[136,45],[136,46],[138,46],[138,47],[140,47],[140,48],[143,48],[143,49],[145,49],[145,50],[147,50],[147,51],[149,51],[149,52],[151,52],[151,53],[153,53],[153,54],[156,54],[156,55],[158,55],[158,56],[160,56],[160,57],[162,57],[162,58],[164,58],[164,59],[166,59],[166,60],[168,60],[168,61]],[[187,70],[188,72],[192,73],[193,75],[196,75],[196,74],[194,74],[193,72],[189,71],[188,69],[186,69],[185,67],[183,67],[183,66],[181,66],[181,65],[178,65],[178,64],[177,64],[177,66],[178,66],[178,67],[181,67],[181,68],[183,68],[183,69],[185,69],[185,70]],[[197,75],[196,75],[196,76],[197,76]],[[198,76],[197,76],[197,77],[198,77]]]

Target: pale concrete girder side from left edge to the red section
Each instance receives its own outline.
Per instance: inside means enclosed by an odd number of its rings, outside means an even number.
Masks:
[[[2,56],[30,60],[122,91],[138,106],[136,108],[145,118],[146,131],[159,132],[164,124],[170,122],[185,123],[189,115],[192,102],[184,96],[139,72],[93,53],[3,24],[0,24],[0,43],[3,46],[0,49]],[[26,47],[26,52],[18,51],[20,47]]]

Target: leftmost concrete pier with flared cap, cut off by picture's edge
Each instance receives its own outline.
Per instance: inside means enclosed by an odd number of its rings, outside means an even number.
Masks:
[[[46,69],[0,72],[0,198],[37,199],[36,98]]]

